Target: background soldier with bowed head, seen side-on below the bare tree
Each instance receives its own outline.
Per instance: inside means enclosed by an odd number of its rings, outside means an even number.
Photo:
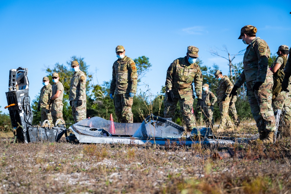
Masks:
[[[216,95],[221,116],[217,132],[223,132],[224,126],[226,126],[228,130],[233,130],[233,122],[228,115],[228,108],[230,103],[229,94],[233,88],[233,84],[229,80],[228,76],[223,76],[219,70],[214,73],[214,76],[219,80],[219,86],[216,89]]]

